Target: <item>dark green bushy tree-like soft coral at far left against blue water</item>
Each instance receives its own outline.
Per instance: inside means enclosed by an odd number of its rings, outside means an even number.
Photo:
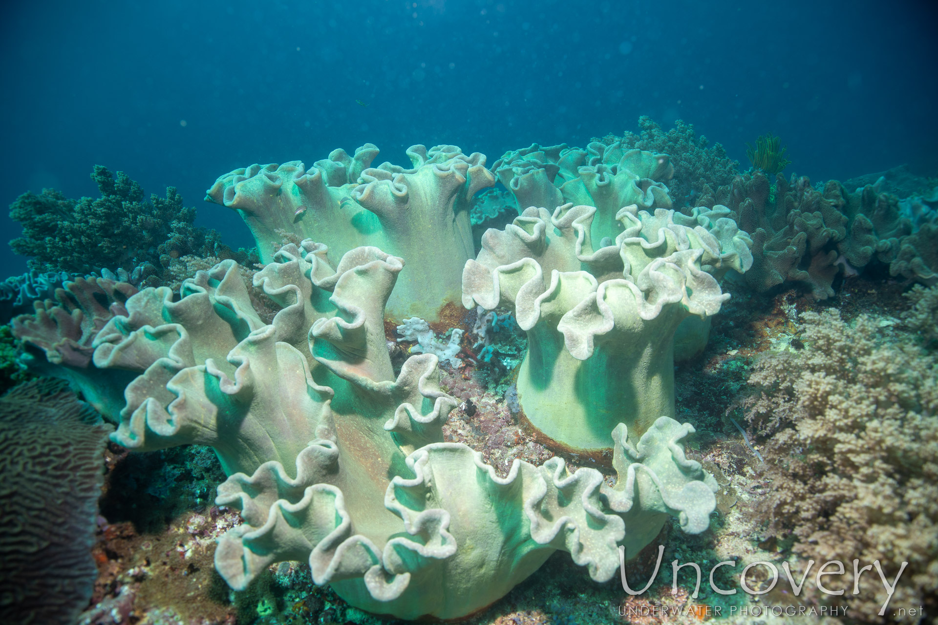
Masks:
[[[174,187],[167,187],[165,198],[152,195],[144,201],[144,190],[123,171],[115,179],[96,165],[91,178],[98,185],[98,199],[69,200],[43,189],[39,195],[23,193],[10,204],[9,216],[23,224],[23,236],[10,246],[17,254],[34,257],[31,268],[131,272],[142,263],[159,267],[185,254],[216,254],[218,233],[192,226],[195,209],[183,206]]]

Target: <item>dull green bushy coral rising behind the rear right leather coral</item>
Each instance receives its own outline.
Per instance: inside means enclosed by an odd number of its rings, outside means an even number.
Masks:
[[[594,138],[607,145],[619,142],[629,149],[644,150],[670,157],[674,166],[673,178],[668,181],[668,195],[673,205],[697,206],[694,202],[703,192],[703,186],[729,185],[739,173],[739,161],[726,156],[719,143],[707,147],[710,141],[694,132],[693,124],[675,120],[674,127],[665,132],[647,115],[639,117],[639,134],[626,131],[621,138],[607,135]]]

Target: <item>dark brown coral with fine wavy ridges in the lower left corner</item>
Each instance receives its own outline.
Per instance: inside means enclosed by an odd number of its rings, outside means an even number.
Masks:
[[[0,620],[71,625],[98,574],[91,545],[109,426],[57,380],[0,397]]]

